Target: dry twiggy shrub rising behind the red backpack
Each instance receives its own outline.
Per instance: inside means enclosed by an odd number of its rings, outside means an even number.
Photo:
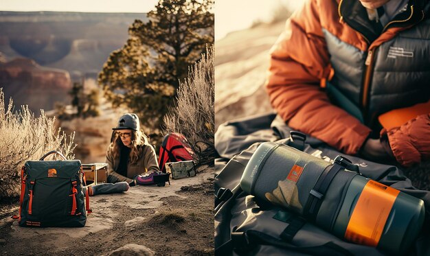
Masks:
[[[164,117],[164,132],[182,133],[197,154],[199,165],[213,164],[214,148],[214,46],[190,67],[179,82],[177,104]]]

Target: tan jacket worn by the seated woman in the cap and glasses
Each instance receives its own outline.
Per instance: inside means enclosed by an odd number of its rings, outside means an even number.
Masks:
[[[142,155],[136,163],[128,163],[127,165],[127,176],[122,176],[115,172],[118,165],[120,164],[120,156],[117,158],[113,157],[113,147],[109,146],[106,152],[106,163],[109,164],[108,174],[117,177],[120,181],[126,181],[130,183],[134,176],[143,174],[144,172],[157,172],[159,171],[157,163],[157,155],[155,154],[152,146],[143,146]]]

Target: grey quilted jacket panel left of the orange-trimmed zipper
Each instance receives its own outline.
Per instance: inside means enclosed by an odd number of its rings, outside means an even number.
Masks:
[[[359,104],[361,79],[363,77],[363,51],[345,43],[335,35],[324,30],[330,62],[335,70],[333,85],[350,100]]]

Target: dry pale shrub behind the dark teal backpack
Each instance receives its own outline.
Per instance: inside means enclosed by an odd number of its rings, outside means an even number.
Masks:
[[[74,158],[74,134],[67,137],[55,128],[54,121],[43,110],[35,117],[28,106],[14,111],[12,99],[5,105],[0,88],[0,198],[19,195],[20,170],[25,161],[38,160],[51,150]]]

